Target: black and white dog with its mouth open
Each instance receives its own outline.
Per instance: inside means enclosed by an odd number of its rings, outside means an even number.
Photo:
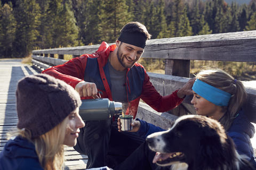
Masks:
[[[147,142],[156,152],[153,163],[171,169],[254,169],[237,153],[221,124],[206,116],[181,116],[171,129],[150,134]]]

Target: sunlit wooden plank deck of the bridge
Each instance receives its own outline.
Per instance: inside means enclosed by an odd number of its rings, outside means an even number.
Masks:
[[[15,128],[18,122],[15,99],[17,82],[31,74],[38,72],[33,67],[22,64],[21,60],[0,60],[0,152],[7,142],[6,132]],[[65,169],[86,168],[87,156],[79,154],[73,147],[65,149]]]

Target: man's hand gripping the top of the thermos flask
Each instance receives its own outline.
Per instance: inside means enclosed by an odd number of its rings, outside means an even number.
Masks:
[[[95,83],[81,81],[76,84],[75,90],[78,92],[80,97],[90,97],[92,96],[94,99],[98,99],[97,96],[97,87]]]

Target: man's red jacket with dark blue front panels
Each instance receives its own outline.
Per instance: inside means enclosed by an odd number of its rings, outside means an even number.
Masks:
[[[102,91],[101,98],[112,99],[110,75],[108,70],[108,56],[116,48],[116,45],[109,46],[103,42],[97,52],[93,54],[84,54],[73,58],[62,65],[51,67],[42,73],[52,75],[63,80],[73,88],[80,81],[93,82],[98,91]],[[142,99],[157,112],[166,112],[177,107],[183,99],[177,96],[177,91],[171,95],[161,96],[152,83],[144,67],[135,63],[131,69],[126,72],[127,102],[129,103],[125,114],[137,115],[139,101]],[[81,99],[92,99],[92,97],[82,97]]]

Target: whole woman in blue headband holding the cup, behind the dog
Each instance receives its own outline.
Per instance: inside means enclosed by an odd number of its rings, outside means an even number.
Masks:
[[[238,153],[247,156],[252,165],[256,167],[250,140],[255,130],[242,109],[247,101],[243,83],[220,69],[205,69],[195,77],[196,80],[192,88],[194,97],[191,104],[194,105],[196,113],[218,120],[234,140]],[[119,131],[121,131],[121,126],[121,123],[118,122]],[[164,131],[162,128],[139,119],[135,120],[132,126],[131,132],[137,133],[142,138],[146,138],[154,132]],[[143,157],[141,153],[144,153]],[[114,170],[157,169],[157,165],[152,163],[154,155],[155,152],[148,149],[147,143],[143,143]]]

